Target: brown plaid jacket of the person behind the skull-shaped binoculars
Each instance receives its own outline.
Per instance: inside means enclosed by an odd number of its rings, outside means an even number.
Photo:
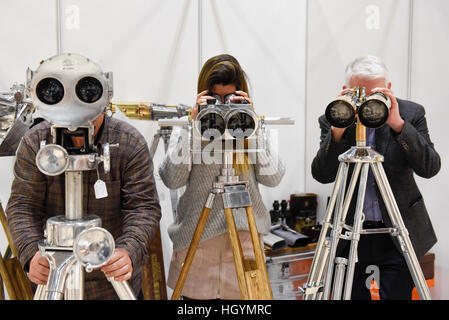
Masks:
[[[50,124],[42,122],[23,137],[14,165],[15,179],[6,208],[9,228],[19,260],[25,270],[44,239],[46,220],[65,215],[65,175],[46,176],[36,164],[40,142],[52,141]],[[108,197],[96,199],[93,185],[97,171],[84,171],[84,214],[101,218],[102,226],[114,236],[117,248],[125,248],[133,263],[130,285],[137,294],[141,287],[141,267],[147,259],[149,243],[159,228],[161,209],[153,178],[153,164],[144,137],[126,122],[105,117],[96,145],[119,144],[111,148],[111,170],[98,172],[106,182]],[[100,149],[101,150],[101,149]],[[86,273],[85,297],[116,299],[117,295],[101,271]]]

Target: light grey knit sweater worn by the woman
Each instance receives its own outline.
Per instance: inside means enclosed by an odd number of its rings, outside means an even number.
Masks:
[[[173,128],[167,153],[159,166],[159,175],[169,189],[186,186],[185,192],[179,198],[173,223],[168,227],[174,251],[190,245],[202,208],[222,167],[220,163],[195,164],[197,163],[196,158],[193,161],[191,153],[188,152],[189,132],[190,129],[187,127]],[[257,229],[259,233],[266,234],[270,230],[271,220],[269,212],[263,204],[258,184],[261,183],[269,187],[277,186],[285,173],[285,167],[269,146],[264,151],[257,153],[255,162],[249,166],[250,169],[244,177],[240,176],[240,180],[249,182],[249,193]],[[248,230],[245,209],[234,209],[234,219],[238,230]],[[218,236],[227,230],[223,199],[219,195],[215,197],[201,241]]]

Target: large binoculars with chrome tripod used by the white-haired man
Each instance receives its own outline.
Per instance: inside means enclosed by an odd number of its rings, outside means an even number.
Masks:
[[[332,101],[326,109],[326,118],[335,127],[346,128],[357,118],[355,128],[357,145],[338,156],[340,165],[332,195],[322,223],[309,277],[301,288],[304,300],[351,299],[360,235],[379,233],[390,234],[397,239],[421,299],[431,299],[407,228],[382,166],[384,157],[366,145],[366,127],[378,128],[385,124],[390,103],[389,98],[381,92],[366,97],[365,88],[356,88]],[[350,166],[353,166],[351,177],[349,177]],[[391,227],[366,230],[363,228],[369,170],[373,172]],[[355,190],[357,185],[358,191]],[[354,218],[350,225],[346,220],[355,195]],[[346,257],[337,256],[340,240],[350,241]]]

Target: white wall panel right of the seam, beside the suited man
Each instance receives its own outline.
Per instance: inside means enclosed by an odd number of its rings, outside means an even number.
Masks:
[[[415,0],[413,24],[412,100],[426,109],[427,125],[441,157],[441,171],[431,179],[417,178],[438,242],[436,256],[436,299],[449,298],[449,144],[447,142],[447,77],[449,75],[449,3],[445,0]]]

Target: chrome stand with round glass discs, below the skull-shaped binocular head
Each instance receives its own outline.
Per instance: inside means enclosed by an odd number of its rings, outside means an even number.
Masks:
[[[36,300],[82,300],[84,298],[84,271],[91,272],[111,258],[115,242],[112,235],[101,228],[96,215],[83,215],[83,171],[98,170],[103,162],[110,170],[110,145],[103,145],[101,155],[94,152],[94,126],[78,127],[75,131],[60,126],[51,127],[53,141],[41,142],[36,155],[39,170],[49,176],[65,173],[65,216],[47,220],[45,240],[40,241],[42,256],[50,264],[45,286],[39,286]],[[65,147],[72,135],[84,136],[85,143],[78,148]],[[105,195],[103,195],[105,196]],[[106,193],[107,196],[107,193]],[[126,281],[108,279],[122,300],[135,300]]]

